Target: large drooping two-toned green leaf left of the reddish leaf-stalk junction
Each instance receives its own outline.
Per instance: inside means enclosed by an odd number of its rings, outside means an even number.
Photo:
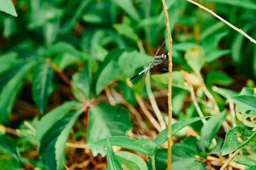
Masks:
[[[49,169],[62,169],[66,142],[83,106],[67,102],[43,116],[36,127],[39,155]]]

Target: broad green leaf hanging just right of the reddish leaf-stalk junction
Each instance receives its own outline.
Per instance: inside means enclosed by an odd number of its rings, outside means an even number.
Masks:
[[[107,103],[92,106],[89,111],[87,143],[93,143],[106,137],[126,135],[132,127],[129,110],[126,108]],[[113,144],[111,143],[111,145]],[[91,147],[91,150],[95,156],[99,153],[105,156],[103,146]]]

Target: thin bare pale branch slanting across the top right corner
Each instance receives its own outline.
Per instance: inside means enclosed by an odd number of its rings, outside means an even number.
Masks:
[[[222,17],[220,17],[219,15],[217,15],[216,13],[214,13],[213,11],[209,10],[208,8],[205,8],[204,6],[192,1],[192,0],[186,0],[189,3],[192,3],[196,6],[198,6],[199,8],[202,8],[203,10],[209,12],[210,14],[214,15],[216,18],[220,19],[222,22],[224,22],[226,25],[228,25],[229,27],[231,27],[232,29],[236,30],[237,32],[239,32],[240,34],[242,34],[243,36],[245,36],[246,38],[248,38],[251,42],[253,42],[254,44],[256,44],[256,41],[250,37],[248,34],[246,34],[245,32],[243,32],[243,30],[233,26],[231,23],[229,23],[228,21],[226,21],[225,19],[223,19]]]

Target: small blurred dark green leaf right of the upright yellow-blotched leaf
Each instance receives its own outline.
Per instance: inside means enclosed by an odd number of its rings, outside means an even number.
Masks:
[[[209,71],[205,80],[205,83],[209,86],[212,84],[229,86],[232,84],[232,82],[232,79],[227,74],[225,74],[225,72],[220,72],[217,70]]]

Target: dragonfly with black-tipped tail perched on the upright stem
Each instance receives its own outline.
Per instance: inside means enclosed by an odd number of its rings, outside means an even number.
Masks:
[[[129,79],[130,81],[135,79],[136,77],[140,76],[141,74],[143,74],[145,72],[145,74],[143,76],[145,76],[147,74],[147,72],[149,70],[151,70],[151,68],[154,68],[156,65],[158,64],[162,64],[163,61],[167,58],[167,56],[165,54],[161,54],[159,56],[157,56],[158,52],[160,51],[161,47],[163,46],[164,42],[162,43],[162,45],[157,48],[157,52],[153,58],[153,61],[150,63],[150,65],[148,65],[145,69],[143,69],[142,71],[140,71],[137,75],[133,76],[131,79]],[[167,69],[166,69],[167,70]]]

